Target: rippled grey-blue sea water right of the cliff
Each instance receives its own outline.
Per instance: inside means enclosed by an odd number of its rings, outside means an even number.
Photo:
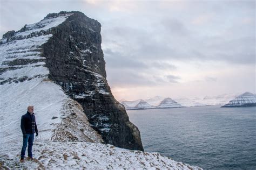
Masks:
[[[256,169],[256,107],[127,110],[146,152],[204,169]]]

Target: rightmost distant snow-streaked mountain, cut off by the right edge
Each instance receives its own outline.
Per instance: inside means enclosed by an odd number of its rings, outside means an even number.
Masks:
[[[256,95],[246,92],[225,104],[222,108],[227,107],[253,107],[256,106]]]

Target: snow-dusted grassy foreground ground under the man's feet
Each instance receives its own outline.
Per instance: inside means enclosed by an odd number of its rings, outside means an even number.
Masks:
[[[126,150],[99,143],[46,142],[36,139],[33,154],[37,160],[18,164],[21,144],[1,145],[0,165],[24,169],[201,169],[176,162],[157,152]],[[4,162],[4,164],[3,164]]]

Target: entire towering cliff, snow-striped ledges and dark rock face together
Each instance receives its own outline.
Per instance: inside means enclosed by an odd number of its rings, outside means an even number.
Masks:
[[[143,151],[138,128],[107,84],[100,26],[72,11],[51,13],[41,22],[5,33],[0,83],[47,78],[82,106],[106,144]]]

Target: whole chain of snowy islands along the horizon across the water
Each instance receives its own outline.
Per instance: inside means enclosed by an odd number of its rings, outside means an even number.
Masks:
[[[250,92],[244,94],[223,94],[218,96],[199,97],[162,97],[155,96],[148,99],[139,99],[135,101],[119,101],[126,110],[139,109],[160,109],[160,108],[181,108],[181,107],[199,107],[208,105],[223,105],[222,107],[251,107],[256,106],[256,95]]]

